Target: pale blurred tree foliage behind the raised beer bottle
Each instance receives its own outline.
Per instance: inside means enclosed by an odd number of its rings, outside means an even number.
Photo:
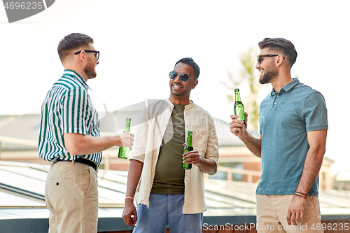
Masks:
[[[240,75],[237,77],[228,72],[229,85],[228,83],[222,83],[232,93],[228,94],[228,101],[231,102],[235,102],[235,88],[248,85],[249,93],[241,92],[241,99],[244,104],[244,110],[248,113],[248,128],[253,129],[255,132],[258,131],[260,107],[258,94],[261,88],[259,76],[255,69],[257,56],[258,52],[253,48],[249,48],[247,52],[243,52],[239,56],[239,62],[241,63]]]

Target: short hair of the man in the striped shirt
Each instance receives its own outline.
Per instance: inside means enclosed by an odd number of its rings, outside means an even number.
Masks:
[[[62,41],[59,42],[57,52],[59,59],[63,62],[66,55],[73,49],[78,49],[81,46],[89,45],[89,43],[94,43],[94,40],[85,34],[81,33],[72,33],[68,36],[64,36]]]

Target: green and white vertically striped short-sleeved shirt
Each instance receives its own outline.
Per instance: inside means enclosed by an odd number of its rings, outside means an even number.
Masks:
[[[77,133],[99,136],[99,116],[87,90],[90,87],[78,73],[65,70],[52,85],[41,106],[41,127],[38,140],[39,157],[46,161],[92,160],[98,166],[102,152],[72,156],[64,147],[63,134]]]

